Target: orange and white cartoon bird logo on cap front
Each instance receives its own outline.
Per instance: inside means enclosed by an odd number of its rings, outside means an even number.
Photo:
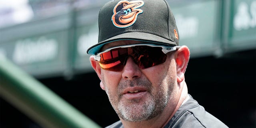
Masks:
[[[143,5],[144,2],[142,0],[121,0],[114,7],[113,24],[118,28],[131,26],[136,21],[138,14],[143,12],[141,9],[138,9]]]

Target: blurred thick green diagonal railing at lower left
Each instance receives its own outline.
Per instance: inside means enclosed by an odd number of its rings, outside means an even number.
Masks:
[[[44,128],[100,128],[6,58],[0,58],[0,96]]]

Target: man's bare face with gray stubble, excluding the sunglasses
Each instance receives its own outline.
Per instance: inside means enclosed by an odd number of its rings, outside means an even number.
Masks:
[[[137,44],[138,41],[122,40],[106,44],[102,50],[118,45]],[[120,72],[101,70],[101,80],[110,103],[118,116],[128,122],[152,119],[168,106],[177,104],[176,100],[176,62],[174,55],[168,53],[166,62],[140,69],[132,58]]]

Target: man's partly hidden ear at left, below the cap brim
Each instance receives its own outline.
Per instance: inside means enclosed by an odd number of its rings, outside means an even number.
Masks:
[[[105,90],[105,87],[102,83],[102,78],[101,78],[101,68],[100,68],[100,64],[97,60],[94,60],[94,56],[90,56],[90,62],[92,65],[92,68],[95,70],[95,72],[97,73],[98,77],[100,78],[100,87]]]

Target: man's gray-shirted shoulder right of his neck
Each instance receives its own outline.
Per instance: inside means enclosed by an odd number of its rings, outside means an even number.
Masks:
[[[204,107],[190,96],[165,128],[228,128],[228,126],[206,112]]]

